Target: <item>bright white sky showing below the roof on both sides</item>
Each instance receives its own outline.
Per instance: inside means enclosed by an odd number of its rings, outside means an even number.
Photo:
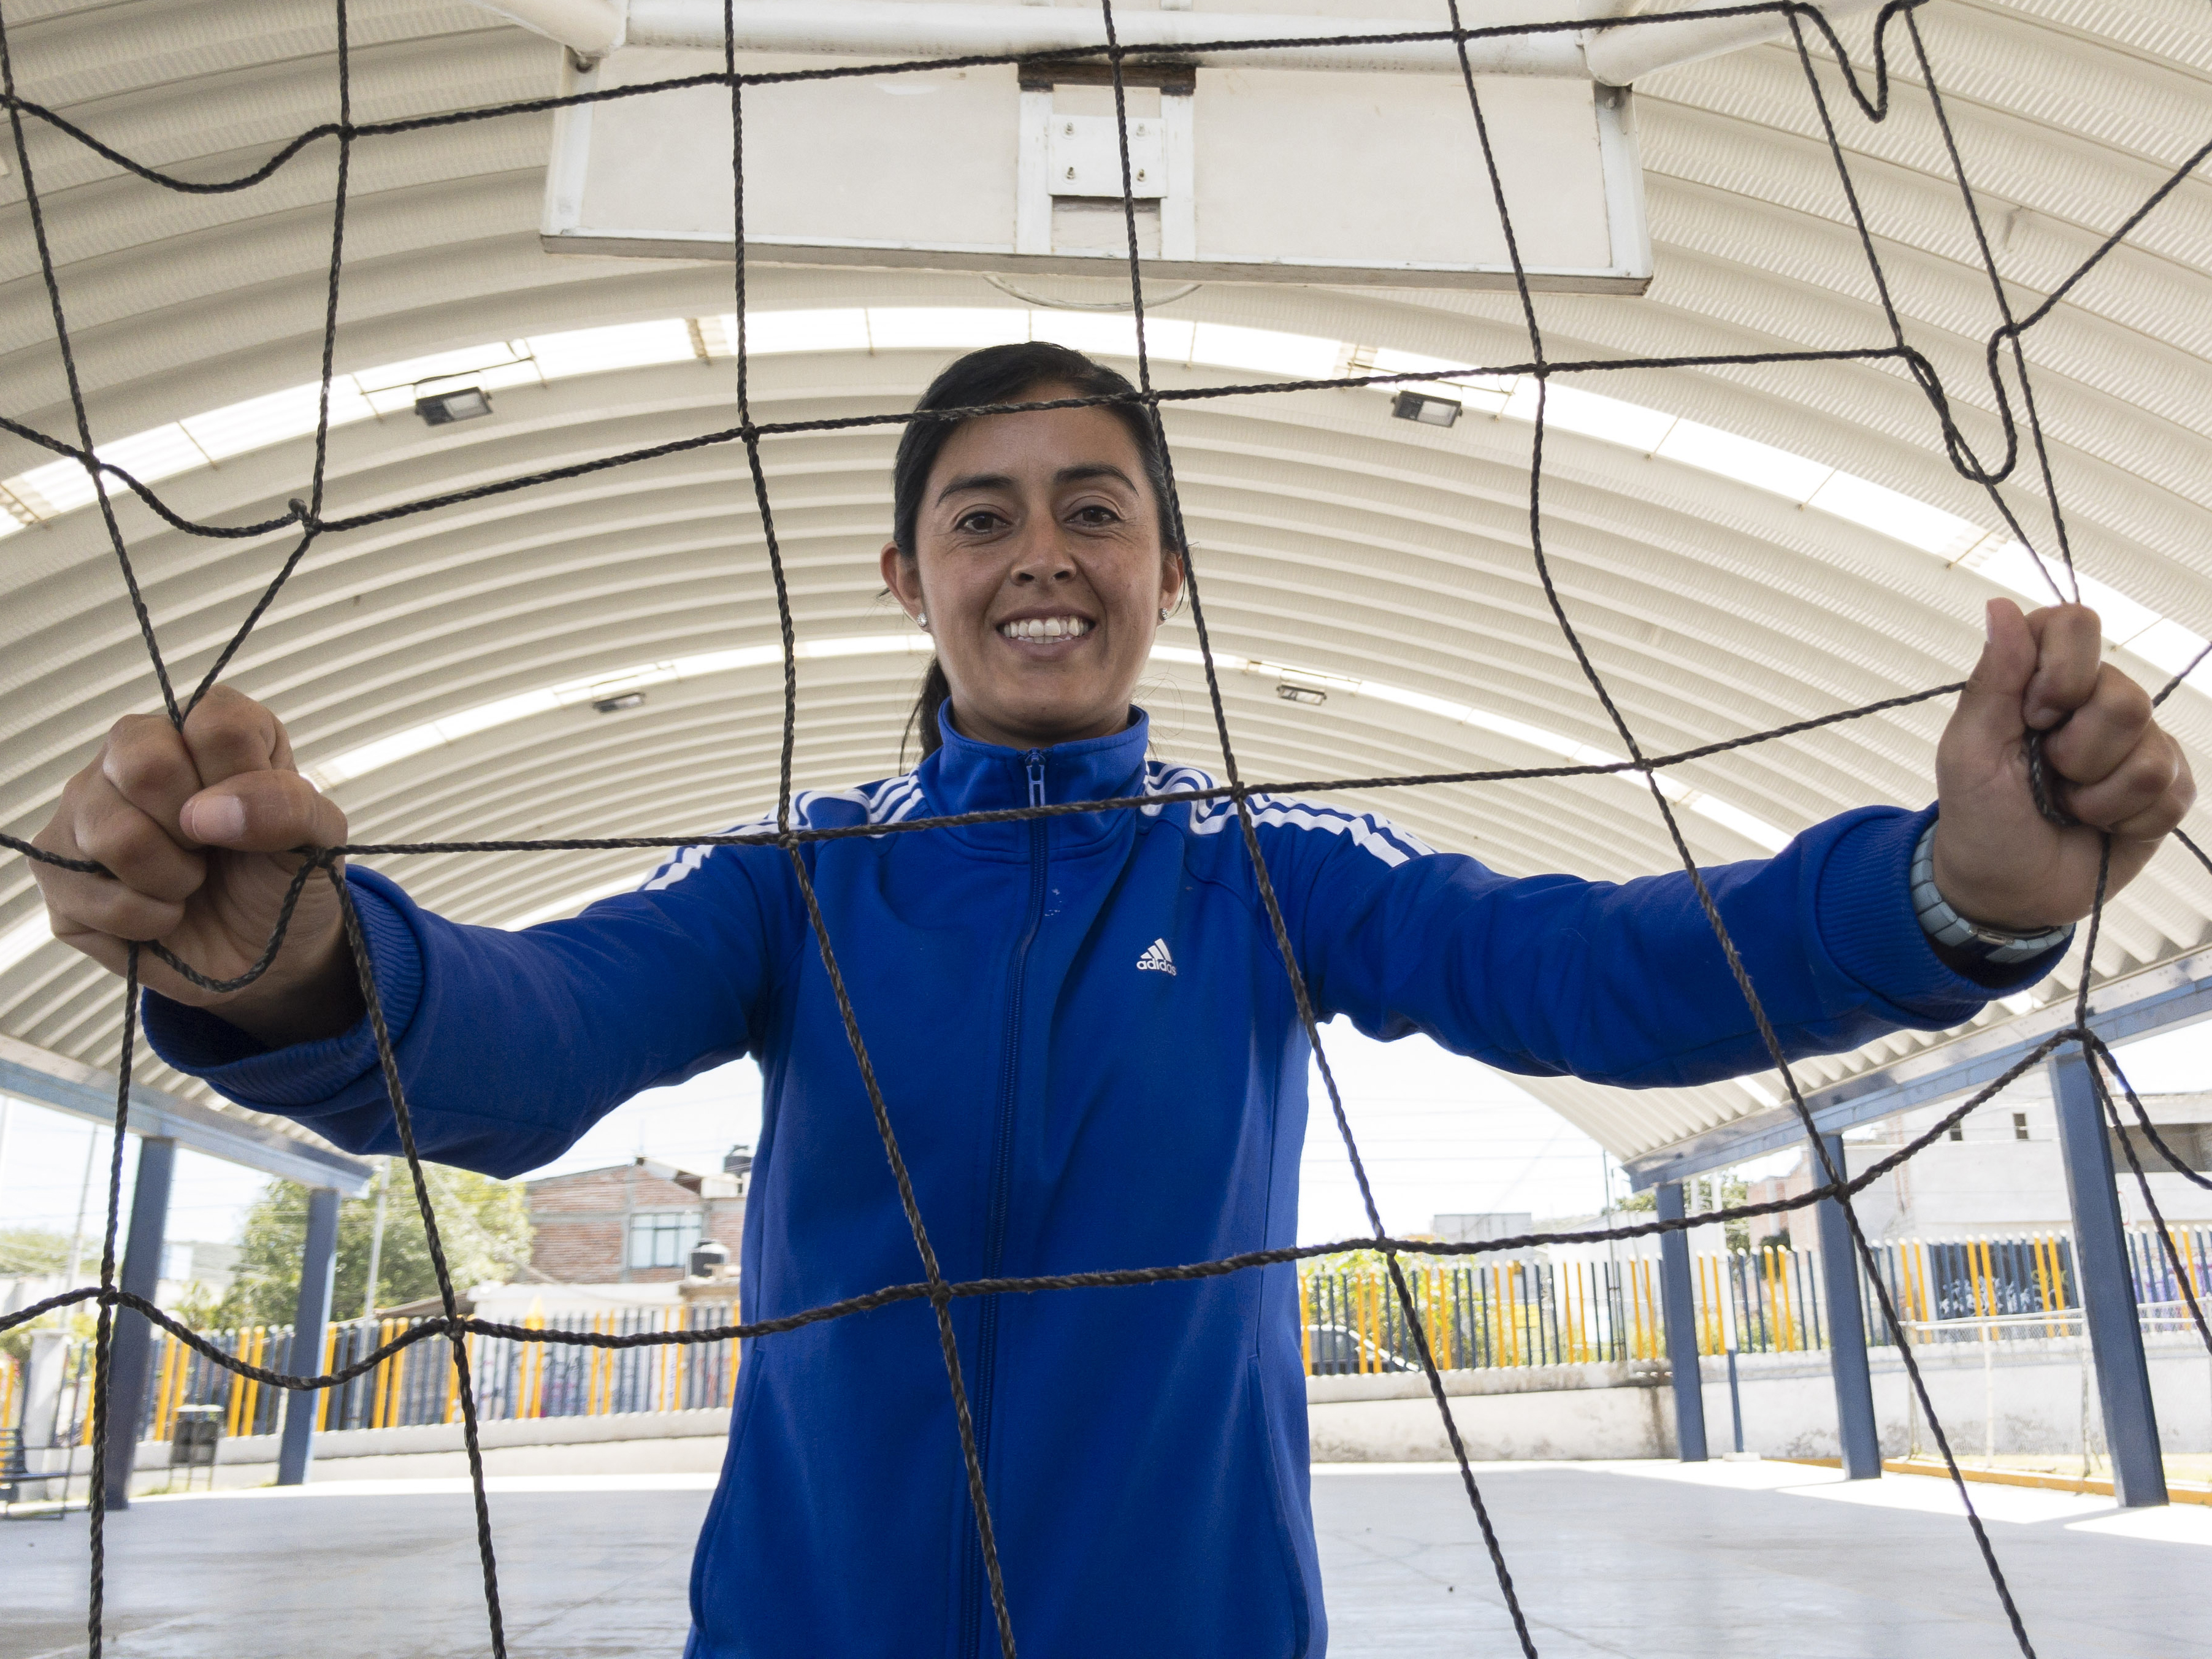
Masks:
[[[1383,1044],[1336,1022],[1323,1044],[1345,1095],[1374,1183],[1376,1208],[1394,1234],[1429,1232],[1447,1212],[1506,1210],[1537,1219],[1590,1214],[1604,1206],[1608,1159],[1504,1073],[1447,1055],[1425,1037]],[[2141,1093],[2212,1088],[2212,1024],[2183,1026],[2119,1046],[2121,1066]],[[0,1097],[4,1099],[4,1097]],[[1305,1137],[1303,1243],[1369,1232],[1349,1161],[1318,1079]],[[719,1170],[732,1144],[759,1139],[761,1077],[752,1062],[653,1088],[608,1113],[544,1175],[588,1170],[646,1155],[690,1170]],[[91,1164],[86,1164],[91,1152]],[[0,1144],[0,1228],[71,1234],[82,1203],[86,1272],[97,1265],[106,1201],[108,1135],[75,1117],[9,1102]],[[131,1159],[124,1159],[128,1214]],[[1613,1177],[1615,1192],[1626,1186]],[[170,1239],[230,1241],[263,1177],[197,1152],[177,1155]]]

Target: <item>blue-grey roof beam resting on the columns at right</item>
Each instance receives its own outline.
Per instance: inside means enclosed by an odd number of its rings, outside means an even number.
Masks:
[[[2117,998],[2117,1000],[2115,1000]],[[2095,1006],[2104,1002],[2104,1006]],[[2093,998],[2088,1029],[2106,1042],[2126,1042],[2146,1031],[2179,1026],[2212,1015],[2212,951],[2192,951],[2141,973],[2101,987]],[[2017,1020],[1964,1031],[1951,1042],[1922,1048],[1876,1071],[1845,1077],[1805,1097],[1823,1135],[1871,1124],[1880,1117],[1927,1106],[1947,1095],[1982,1088],[2015,1066],[2053,1031],[2073,1024],[2073,998],[2062,998]],[[1805,1139],[1796,1110],[1776,1106],[1739,1117],[1734,1124],[1688,1135],[1632,1157],[1621,1168],[1635,1190],[1681,1181],[1765,1152],[1781,1152]]]

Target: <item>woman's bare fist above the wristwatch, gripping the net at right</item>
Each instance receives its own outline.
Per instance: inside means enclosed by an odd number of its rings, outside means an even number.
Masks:
[[[2150,695],[2104,659],[2081,604],[2020,613],[1989,602],[1989,644],[1936,745],[1936,887],[1989,927],[2037,931],[2097,902],[2099,832],[2112,836],[2108,894],[2150,863],[2197,801],[2190,763],[2152,719]],[[2044,737],[2051,823],[2028,787],[2028,732]]]

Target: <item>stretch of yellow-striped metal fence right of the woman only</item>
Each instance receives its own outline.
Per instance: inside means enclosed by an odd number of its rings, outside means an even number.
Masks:
[[[2135,1298],[2146,1329],[2183,1316],[2183,1279],[2212,1292],[2212,1228],[2174,1228],[2172,1256],[2148,1228],[2128,1234]],[[2079,1332],[2073,1241],[2066,1234],[2011,1239],[1909,1239],[1876,1245],[1898,1316],[1911,1338],[1975,1332],[2068,1336]],[[1666,1354],[1659,1263],[1624,1261],[1405,1261],[1436,1363],[1444,1369],[1655,1360]],[[1805,1354],[1829,1343],[1820,1261],[1812,1250],[1730,1250],[1690,1261],[1701,1354],[1723,1354],[1734,1332],[1741,1354]],[[1889,1345],[1860,1265],[1867,1343]],[[1416,1371],[1405,1312],[1378,1256],[1310,1263],[1298,1279],[1310,1376]]]

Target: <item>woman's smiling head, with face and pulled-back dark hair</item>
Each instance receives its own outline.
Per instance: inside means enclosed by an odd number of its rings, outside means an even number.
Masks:
[[[918,409],[1130,398],[1064,345],[993,345],[953,363]],[[938,646],[907,726],[1031,750],[1108,737],[1183,588],[1168,465],[1150,414],[1102,403],[914,420],[891,467],[883,580]]]

